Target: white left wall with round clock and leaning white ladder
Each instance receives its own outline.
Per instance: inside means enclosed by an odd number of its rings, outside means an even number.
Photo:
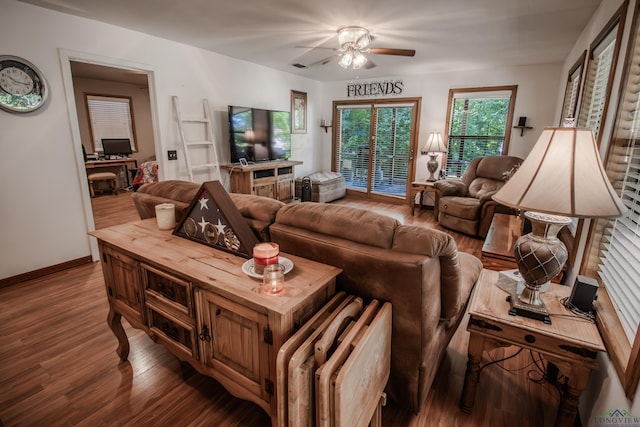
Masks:
[[[93,222],[85,215],[91,205],[75,103],[67,100],[73,92],[65,87],[69,64],[61,56],[152,70],[156,153],[164,179],[187,177],[180,151],[180,160],[164,160],[167,150],[180,147],[172,95],[179,96],[183,110],[192,115],[202,114],[201,99],[208,98],[218,119],[219,151],[225,153],[222,120],[227,105],[289,110],[290,90],[295,89],[308,93],[312,115],[313,102],[320,98],[319,83],[292,74],[12,0],[0,0],[0,10],[0,52],[34,63],[50,88],[46,105],[36,112],[0,111],[0,278],[82,258],[95,247],[87,236]],[[315,160],[320,156],[311,149],[319,146],[315,142],[320,131],[309,126],[309,133],[293,135],[292,158],[304,162],[300,174],[321,167]]]

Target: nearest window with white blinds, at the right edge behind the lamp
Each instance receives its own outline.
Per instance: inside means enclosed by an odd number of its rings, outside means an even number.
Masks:
[[[626,5],[626,4],[625,4]],[[623,6],[624,7],[624,6]],[[598,278],[598,327],[629,399],[640,376],[640,29],[638,6],[605,168],[628,213],[592,221],[581,274]]]

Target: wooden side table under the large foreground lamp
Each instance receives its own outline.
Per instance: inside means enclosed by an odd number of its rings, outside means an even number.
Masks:
[[[560,302],[569,296],[568,286],[551,285],[542,295],[551,325],[521,316],[510,316],[507,293],[496,286],[498,272],[483,270],[469,306],[469,360],[460,406],[470,413],[480,377],[482,355],[497,347],[515,345],[540,353],[568,378],[555,425],[573,426],[578,398],[587,387],[589,374],[597,368],[596,356],[605,351],[595,324],[572,315]]]

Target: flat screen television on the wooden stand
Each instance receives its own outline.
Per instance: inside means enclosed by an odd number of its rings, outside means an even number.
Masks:
[[[288,111],[229,106],[231,163],[288,160],[291,121]]]

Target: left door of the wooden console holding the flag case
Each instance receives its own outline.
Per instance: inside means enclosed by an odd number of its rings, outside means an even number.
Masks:
[[[144,323],[138,261],[101,245],[107,295],[114,308],[132,323]]]

